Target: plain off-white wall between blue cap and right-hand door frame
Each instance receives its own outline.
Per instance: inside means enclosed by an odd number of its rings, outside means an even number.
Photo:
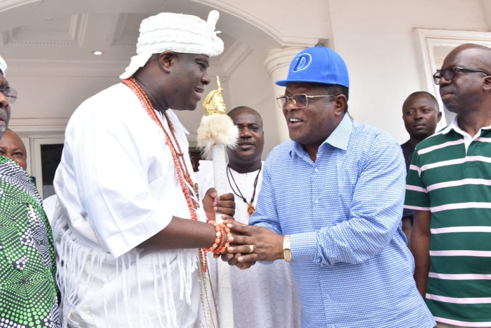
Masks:
[[[432,91],[420,82],[421,54],[412,29],[487,30],[479,0],[329,0],[329,6],[330,44],[350,73],[350,112],[399,143],[409,139],[402,103],[414,91]]]

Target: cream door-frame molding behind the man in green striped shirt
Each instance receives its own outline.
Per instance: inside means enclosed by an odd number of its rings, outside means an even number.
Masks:
[[[439,94],[438,86],[433,82],[433,74],[436,69],[436,48],[455,48],[463,43],[477,43],[486,47],[491,47],[491,32],[477,32],[466,30],[430,30],[414,29],[414,35],[419,52],[418,60],[420,61],[421,85],[434,95]],[[440,108],[443,103],[440,97],[436,97]],[[445,111],[442,112],[442,119],[438,127],[443,128],[448,123],[445,119]]]

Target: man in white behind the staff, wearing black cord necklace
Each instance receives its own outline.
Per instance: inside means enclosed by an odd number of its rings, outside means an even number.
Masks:
[[[263,180],[263,121],[254,109],[244,106],[234,108],[228,116],[239,128],[239,140],[237,149],[228,152],[227,192],[235,193],[234,219],[248,224]],[[196,178],[200,189],[212,187],[213,162],[200,161]],[[230,271],[235,328],[300,327],[300,301],[288,263],[256,263],[247,270],[231,267]]]

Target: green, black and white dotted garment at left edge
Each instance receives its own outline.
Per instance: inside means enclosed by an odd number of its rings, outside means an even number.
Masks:
[[[39,193],[0,156],[0,327],[59,328],[55,250]]]

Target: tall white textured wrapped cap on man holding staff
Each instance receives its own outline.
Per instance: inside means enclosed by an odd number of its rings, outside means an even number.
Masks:
[[[164,51],[177,53],[203,54],[209,57],[218,56],[223,51],[223,41],[215,32],[219,13],[212,10],[208,21],[192,15],[163,12],[141,21],[140,36],[136,44],[136,56],[119,76],[124,80],[130,78],[138,68],[145,66],[153,54]]]

